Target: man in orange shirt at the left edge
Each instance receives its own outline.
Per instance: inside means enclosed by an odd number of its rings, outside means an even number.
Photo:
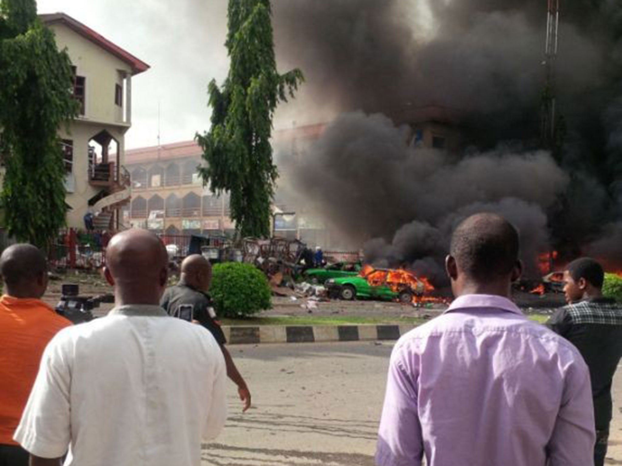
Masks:
[[[15,244],[0,256],[0,466],[27,466],[13,433],[19,424],[45,345],[72,323],[43,301],[47,263],[39,249]]]

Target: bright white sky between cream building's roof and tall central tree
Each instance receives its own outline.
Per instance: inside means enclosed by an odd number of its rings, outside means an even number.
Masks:
[[[64,12],[151,65],[132,83],[126,147],[190,140],[208,129],[207,83],[228,60],[224,0],[39,0],[39,13]]]

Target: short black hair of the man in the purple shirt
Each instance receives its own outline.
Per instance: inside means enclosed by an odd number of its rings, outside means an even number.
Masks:
[[[519,235],[503,217],[481,213],[462,221],[452,235],[450,254],[461,272],[475,280],[507,275],[518,262]]]

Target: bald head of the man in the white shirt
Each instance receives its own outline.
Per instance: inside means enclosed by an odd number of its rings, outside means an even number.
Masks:
[[[123,304],[157,304],[168,278],[164,244],[153,233],[131,229],[113,236],[104,273]],[[134,302],[128,302],[134,301]]]

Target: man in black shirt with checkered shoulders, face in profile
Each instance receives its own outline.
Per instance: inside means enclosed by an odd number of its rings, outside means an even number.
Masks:
[[[601,292],[605,273],[595,260],[583,257],[564,272],[567,306],[547,322],[553,331],[577,347],[590,368],[596,445],[594,464],[602,466],[611,421],[611,381],[622,356],[622,306]]]

